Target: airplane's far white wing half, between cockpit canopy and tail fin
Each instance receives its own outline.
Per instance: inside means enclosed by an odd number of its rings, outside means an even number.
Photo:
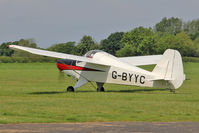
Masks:
[[[157,64],[162,55],[147,55],[147,56],[133,56],[118,58],[122,62],[131,64],[133,66],[153,65]]]

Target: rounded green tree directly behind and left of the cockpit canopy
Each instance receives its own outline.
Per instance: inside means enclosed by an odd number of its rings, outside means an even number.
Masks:
[[[80,43],[76,46],[76,54],[78,55],[84,55],[86,52],[98,49],[97,43],[93,40],[91,36],[83,36],[83,38],[80,40]]]

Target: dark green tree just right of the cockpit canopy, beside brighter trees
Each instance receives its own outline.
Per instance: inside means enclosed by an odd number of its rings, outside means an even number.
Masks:
[[[117,50],[124,47],[121,43],[123,34],[124,32],[112,33],[107,39],[101,41],[100,49],[112,55],[115,55]]]

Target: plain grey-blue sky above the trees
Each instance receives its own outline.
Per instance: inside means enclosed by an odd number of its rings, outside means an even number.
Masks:
[[[153,27],[163,17],[199,19],[199,0],[0,0],[0,44],[35,39],[42,48],[94,40],[135,27]]]

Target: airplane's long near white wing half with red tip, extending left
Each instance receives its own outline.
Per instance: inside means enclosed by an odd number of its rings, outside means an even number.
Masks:
[[[94,60],[92,58],[87,58],[87,57],[83,57],[83,56],[76,56],[76,55],[52,52],[52,51],[47,51],[47,50],[28,48],[28,47],[23,47],[23,46],[18,46],[18,45],[9,45],[8,47],[12,48],[12,49],[20,49],[23,51],[30,52],[32,54],[37,54],[37,55],[42,55],[42,56],[61,58],[61,59],[71,59],[71,60],[83,61],[83,62],[87,62],[87,63],[93,63],[93,64],[105,65],[105,66],[111,65],[109,63],[103,63],[98,60]]]

